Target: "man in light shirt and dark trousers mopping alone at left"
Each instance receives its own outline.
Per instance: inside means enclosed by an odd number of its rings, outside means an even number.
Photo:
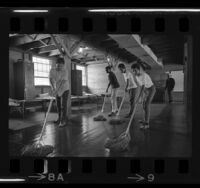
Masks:
[[[50,71],[50,84],[53,95],[56,97],[58,119],[54,122],[63,127],[66,124],[67,101],[69,97],[69,78],[65,68],[65,61],[63,58],[58,58],[56,61],[56,68]]]

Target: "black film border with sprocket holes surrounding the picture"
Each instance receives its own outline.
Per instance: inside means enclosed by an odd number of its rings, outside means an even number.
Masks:
[[[93,32],[193,35],[196,47],[199,46],[200,13],[89,14],[85,10],[81,10],[80,13],[79,10],[72,10],[67,13],[60,11],[25,16],[25,14],[15,14],[6,9],[1,14],[8,18],[2,19],[5,24],[5,30],[1,32],[3,36],[8,33],[90,34]],[[6,42],[5,39],[4,41]],[[4,49],[4,52],[7,49]],[[197,53],[195,50],[195,54]],[[200,59],[197,56],[194,58],[195,61]],[[194,95],[197,96],[197,93]],[[193,126],[194,129],[197,130],[197,127]],[[7,132],[6,126],[3,130]],[[195,150],[195,147],[193,149]],[[2,160],[4,160],[3,157]],[[5,177],[11,178],[26,177],[25,182],[33,183],[39,183],[40,180],[37,179],[40,178],[41,181],[47,183],[189,183],[191,180],[197,181],[194,174],[197,175],[199,170],[193,169],[199,162],[198,157],[196,150],[192,158],[183,159],[165,157],[43,159],[9,158],[5,155],[4,174]],[[38,178],[35,176],[34,179],[33,174],[40,175]],[[32,179],[27,175],[32,176]]]

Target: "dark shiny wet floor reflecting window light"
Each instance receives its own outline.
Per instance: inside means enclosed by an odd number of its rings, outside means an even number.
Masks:
[[[128,112],[124,105],[121,117]],[[107,107],[107,112],[110,106]],[[94,122],[93,117],[100,109],[85,106],[72,111],[68,124],[59,128],[48,122],[43,141],[55,147],[49,157],[189,157],[191,155],[191,136],[185,120],[183,104],[152,104],[149,130],[141,130],[138,120],[142,118],[141,105],[138,106],[135,120],[132,122],[129,150],[122,153],[110,153],[104,148],[107,137],[119,135],[126,129],[128,119],[121,125],[110,125],[108,121]],[[52,114],[55,116],[55,114]],[[44,113],[31,114],[28,119],[37,121]],[[109,119],[106,116],[107,119]],[[41,124],[25,129],[10,131],[10,154],[20,155],[20,149],[33,143],[39,137]]]

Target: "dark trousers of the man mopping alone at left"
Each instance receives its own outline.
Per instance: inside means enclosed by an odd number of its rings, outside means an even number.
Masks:
[[[67,101],[69,96],[69,90],[65,91],[62,96],[56,96],[58,117],[61,121],[65,121],[67,119]]]

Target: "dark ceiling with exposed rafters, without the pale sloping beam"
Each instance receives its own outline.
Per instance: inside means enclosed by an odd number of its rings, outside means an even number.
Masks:
[[[183,41],[181,37],[165,35],[140,35],[142,43],[148,45],[163,64],[182,64]],[[108,54],[120,60],[131,63],[137,57],[110,38],[107,34],[69,35],[70,43],[73,45],[80,41],[79,48],[72,56],[72,61],[85,64],[90,61],[105,60]],[[49,34],[12,34],[9,36],[9,46],[18,48],[25,52],[57,57],[59,50]],[[87,48],[85,48],[87,47]]]

